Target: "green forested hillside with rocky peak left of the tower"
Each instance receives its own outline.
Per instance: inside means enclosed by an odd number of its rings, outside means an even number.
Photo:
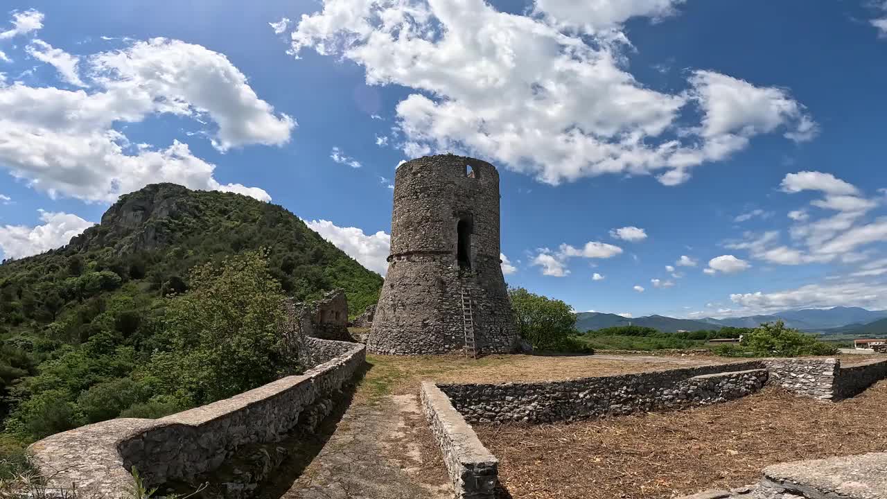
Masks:
[[[0,418],[7,434],[39,438],[118,416],[129,402],[137,406],[134,416],[169,410],[139,406],[130,379],[165,346],[168,296],[189,289],[195,265],[221,265],[251,249],[264,249],[268,273],[288,296],[311,299],[343,288],[352,314],[378,298],[380,275],[289,211],[172,184],[122,196],[100,225],[62,249],[5,261]]]

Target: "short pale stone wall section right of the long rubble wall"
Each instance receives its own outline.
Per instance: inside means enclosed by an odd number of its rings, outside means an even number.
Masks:
[[[841,362],[837,359],[765,359],[770,383],[797,395],[819,400],[835,397],[835,376]]]

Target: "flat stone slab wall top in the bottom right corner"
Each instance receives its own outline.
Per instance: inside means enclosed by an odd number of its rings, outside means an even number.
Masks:
[[[887,452],[774,464],[764,469],[763,485],[812,499],[883,499]]]

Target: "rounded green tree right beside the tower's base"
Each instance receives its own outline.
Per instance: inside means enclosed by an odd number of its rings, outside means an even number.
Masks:
[[[534,295],[523,288],[508,289],[508,295],[521,337],[534,349],[560,348],[577,332],[576,314],[561,300]]]

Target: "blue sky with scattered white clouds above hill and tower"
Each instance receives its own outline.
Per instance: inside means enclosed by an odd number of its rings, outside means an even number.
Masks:
[[[887,4],[4,7],[5,257],[173,181],[383,271],[396,165],[456,152],[500,170],[506,281],[579,311],[887,308]]]

